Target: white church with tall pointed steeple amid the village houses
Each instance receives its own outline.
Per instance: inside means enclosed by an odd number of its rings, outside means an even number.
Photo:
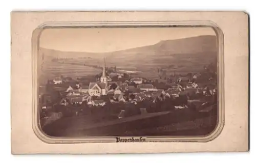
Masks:
[[[99,82],[91,82],[89,85],[88,93],[90,96],[102,96],[108,93],[108,82],[110,78],[106,75],[105,59],[103,64],[102,75]]]

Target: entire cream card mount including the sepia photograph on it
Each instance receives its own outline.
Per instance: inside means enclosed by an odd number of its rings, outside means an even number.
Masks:
[[[14,154],[248,150],[243,12],[13,12],[11,32]]]

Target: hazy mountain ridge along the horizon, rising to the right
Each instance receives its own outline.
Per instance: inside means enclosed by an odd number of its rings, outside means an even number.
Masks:
[[[146,53],[148,55],[168,55],[179,53],[216,53],[216,36],[204,35],[176,40],[162,40],[153,45],[146,45],[125,50],[112,52],[81,52],[81,51],[60,51],[40,47],[42,58],[102,58],[102,57],[120,57],[120,55],[133,56]],[[148,57],[148,56],[147,56]]]

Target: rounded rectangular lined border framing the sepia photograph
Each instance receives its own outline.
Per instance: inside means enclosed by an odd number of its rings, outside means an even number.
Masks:
[[[217,37],[217,80],[218,80],[218,119],[214,131],[204,137],[173,137],[173,136],[148,136],[148,137],[120,137],[123,140],[136,138],[145,142],[209,142],[218,137],[224,127],[224,35],[217,24],[212,21],[118,21],[118,22],[46,22],[38,26],[32,34],[32,127],[36,136],[49,144],[67,143],[114,143],[116,137],[50,137],[40,127],[38,108],[38,56],[39,37],[44,29],[49,28],[161,28],[161,27],[210,27]],[[142,141],[143,142],[143,141]]]

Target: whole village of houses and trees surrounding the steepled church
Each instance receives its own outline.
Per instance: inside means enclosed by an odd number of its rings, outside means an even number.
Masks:
[[[217,104],[217,73],[211,66],[204,68],[205,73],[174,73],[152,80],[107,68],[104,60],[102,72],[96,76],[60,76],[39,87],[41,125],[63,117],[88,115],[100,122],[142,113],[203,111]]]

